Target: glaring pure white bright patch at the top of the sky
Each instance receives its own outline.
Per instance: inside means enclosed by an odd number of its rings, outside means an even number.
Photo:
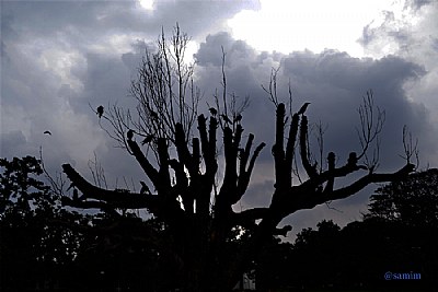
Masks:
[[[387,9],[401,8],[388,0],[263,0],[261,10],[242,11],[228,24],[235,38],[258,50],[319,52],[335,48],[361,57],[364,49],[357,39],[364,26]]]

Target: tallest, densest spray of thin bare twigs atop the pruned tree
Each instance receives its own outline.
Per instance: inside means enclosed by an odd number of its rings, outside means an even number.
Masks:
[[[108,127],[102,128],[130,154],[126,140],[129,129],[141,137],[145,141],[142,144],[152,149],[155,156],[159,138],[175,142],[176,124],[183,125],[186,142],[191,140],[201,94],[193,81],[194,65],[185,63],[189,40],[180,31],[178,24],[170,38],[165,37],[162,30],[157,40],[157,51],[146,49],[137,77],[131,81],[129,95],[137,102],[135,113],[115,104],[108,106],[110,109],[103,115]]]

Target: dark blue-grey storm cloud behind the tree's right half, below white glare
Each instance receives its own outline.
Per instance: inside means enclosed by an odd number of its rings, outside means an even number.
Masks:
[[[381,135],[379,171],[395,171],[404,165],[405,162],[399,156],[403,154],[404,125],[419,139],[422,156],[433,157],[433,161],[423,161],[423,166],[428,162],[436,163],[434,140],[438,133],[437,128],[433,125],[426,107],[411,101],[403,90],[405,82],[416,81],[425,74],[420,66],[395,56],[378,60],[359,59],[336,50],[325,50],[321,54],[298,51],[289,55],[257,52],[244,42],[220,33],[209,35],[196,54],[197,83],[206,92],[208,89],[212,92],[215,87],[221,90],[221,46],[227,59],[224,70],[228,92],[239,96],[249,94],[251,97],[251,106],[243,113],[242,125],[245,133],[254,132],[256,141],[267,143],[255,166],[253,185],[242,202],[234,206],[235,210],[266,206],[274,191],[270,148],[274,141],[275,109],[261,86],[268,83],[273,67],[280,66],[277,80],[279,97],[287,101],[290,81],[293,110],[298,110],[304,102],[311,102],[308,108],[310,121],[321,120],[327,126],[324,136],[324,157],[328,151],[334,151],[338,157],[338,165],[342,165],[350,151],[360,152],[355,129],[360,126],[357,108],[366,92],[373,90],[376,105],[387,113]],[[306,179],[306,175],[303,178]],[[349,183],[341,180],[336,187]],[[299,231],[315,225],[322,219],[335,219],[341,224],[358,220],[360,212],[367,210],[369,195],[376,187],[370,186],[365,191],[331,206],[323,205],[312,211],[299,212],[286,219],[284,223],[292,224],[295,231]]]

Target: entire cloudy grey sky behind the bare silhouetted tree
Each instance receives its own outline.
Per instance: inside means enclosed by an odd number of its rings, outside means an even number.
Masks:
[[[273,191],[274,107],[261,86],[273,68],[280,68],[280,97],[290,82],[296,109],[312,103],[309,118],[327,126],[325,149],[341,161],[359,150],[356,108],[372,89],[387,113],[379,170],[403,165],[404,125],[419,140],[420,167],[436,167],[437,14],[438,2],[428,0],[1,1],[0,153],[38,156],[42,148],[53,173],[69,162],[88,177],[96,155],[111,186],[142,178],[91,107],[130,105],[142,48],[177,22],[192,36],[187,61],[196,61],[201,106],[221,87],[223,47],[229,92],[251,97],[245,132],[268,144],[237,208],[264,206]],[[358,220],[376,187],[334,202],[336,210],[321,206],[287,221],[299,231],[322,219]]]

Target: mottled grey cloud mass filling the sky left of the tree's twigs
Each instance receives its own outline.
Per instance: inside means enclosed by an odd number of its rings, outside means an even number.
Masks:
[[[153,11],[138,1],[2,2],[2,138],[25,138],[18,140],[23,147],[2,139],[2,155],[38,155],[43,147],[53,170],[73,161],[88,172],[96,152],[111,164],[108,176],[138,175],[90,105],[132,105],[130,79],[161,27],[169,36],[180,22],[201,37],[223,19],[257,8],[257,1],[155,1]],[[42,136],[47,129],[53,137]]]

